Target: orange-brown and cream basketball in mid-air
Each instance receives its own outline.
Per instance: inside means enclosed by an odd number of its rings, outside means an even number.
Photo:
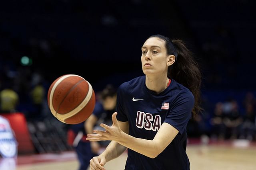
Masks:
[[[75,74],[57,78],[48,90],[47,100],[52,115],[67,124],[85,121],[95,106],[91,84]]]

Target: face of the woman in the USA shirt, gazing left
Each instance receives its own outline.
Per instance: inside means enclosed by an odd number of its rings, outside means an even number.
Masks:
[[[141,63],[144,74],[166,74],[169,58],[165,42],[157,37],[146,40],[141,47]]]

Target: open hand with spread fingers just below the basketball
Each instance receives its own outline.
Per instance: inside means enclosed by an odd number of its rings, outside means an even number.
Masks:
[[[112,126],[101,123],[100,126],[106,129],[105,131],[93,130],[96,134],[87,134],[86,140],[88,141],[116,141],[120,140],[123,131],[120,129],[119,123],[116,119],[117,112],[112,115]]]

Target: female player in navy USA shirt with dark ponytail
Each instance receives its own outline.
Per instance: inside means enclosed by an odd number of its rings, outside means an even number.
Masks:
[[[92,170],[128,148],[126,170],[189,170],[186,126],[200,111],[201,74],[181,40],[152,35],[141,48],[141,76],[118,89],[117,113],[106,131],[94,130],[90,141],[111,140],[90,160]]]

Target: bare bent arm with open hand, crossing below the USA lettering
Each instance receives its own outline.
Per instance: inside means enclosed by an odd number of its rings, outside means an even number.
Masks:
[[[87,140],[90,141],[104,141],[111,140],[116,141],[120,145],[132,149],[140,154],[148,156],[150,158],[155,158],[160,154],[176,137],[178,130],[168,123],[163,123],[156,136],[153,140],[146,140],[132,137],[124,133],[120,129],[120,125],[116,119],[116,112],[112,115],[113,125],[109,127],[108,125],[101,124],[106,131],[94,130],[97,134],[88,134]]]

